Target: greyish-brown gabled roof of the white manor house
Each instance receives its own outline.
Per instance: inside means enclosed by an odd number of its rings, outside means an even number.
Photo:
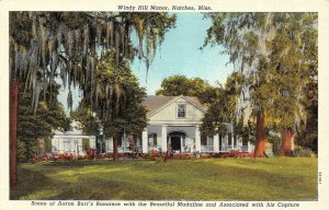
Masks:
[[[148,110],[147,115],[151,115],[154,113],[157,113],[161,108],[168,106],[169,104],[173,103],[178,98],[184,98],[188,102],[190,102],[192,105],[200,108],[202,112],[205,112],[206,108],[201,104],[201,102],[197,100],[197,97],[194,96],[162,96],[162,95],[148,95],[144,98],[143,105]]]

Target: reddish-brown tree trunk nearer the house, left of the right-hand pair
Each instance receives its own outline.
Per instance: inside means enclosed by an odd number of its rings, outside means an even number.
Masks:
[[[266,132],[265,132],[265,116],[261,110],[257,113],[256,122],[256,145],[254,158],[263,158],[265,150]]]

